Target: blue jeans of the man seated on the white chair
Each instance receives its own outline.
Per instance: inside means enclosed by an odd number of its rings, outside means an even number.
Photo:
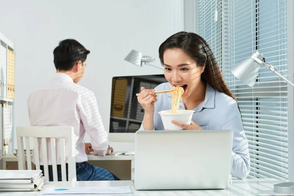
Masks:
[[[76,163],[75,168],[77,181],[120,180],[113,173],[87,162]],[[61,171],[57,171],[57,176],[58,181],[61,181]],[[68,170],[66,170],[66,179],[68,180]],[[49,172],[49,181],[53,181],[53,172]]]

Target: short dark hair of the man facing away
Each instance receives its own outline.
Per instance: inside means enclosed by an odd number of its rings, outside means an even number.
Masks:
[[[55,68],[60,71],[69,71],[76,61],[83,63],[89,53],[90,50],[87,50],[78,41],[74,39],[63,40],[53,50]]]

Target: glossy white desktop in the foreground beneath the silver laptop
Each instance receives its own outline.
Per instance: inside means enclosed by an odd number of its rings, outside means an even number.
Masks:
[[[49,188],[69,187],[109,187],[129,186],[133,194],[123,196],[281,196],[273,193],[273,184],[281,181],[272,178],[263,179],[232,179],[225,190],[173,190],[173,191],[136,191],[131,181],[77,181],[77,182],[47,182]],[[10,192],[1,193],[0,196],[42,196],[41,192]],[[64,195],[63,195],[64,196]],[[74,195],[79,196],[79,195]],[[92,196],[92,195],[87,195]],[[98,195],[93,195],[98,196]],[[107,195],[120,196],[120,195]],[[122,195],[121,195],[122,196]]]

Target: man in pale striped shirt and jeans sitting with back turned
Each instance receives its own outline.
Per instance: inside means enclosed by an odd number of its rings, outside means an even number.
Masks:
[[[84,74],[89,53],[76,40],[67,39],[59,43],[53,51],[57,73],[49,83],[32,92],[27,99],[29,120],[31,126],[73,126],[72,148],[77,180],[119,180],[111,172],[87,163],[86,152],[94,151],[94,154],[104,156],[113,151],[108,145],[107,132],[94,93],[77,84]],[[91,144],[83,143],[86,132],[90,135]],[[49,142],[47,149],[50,149]],[[61,180],[60,153],[63,149],[58,147],[59,142],[56,145],[58,180]],[[65,149],[66,155],[67,151]],[[48,153],[48,164],[52,181],[51,153]],[[43,165],[42,154],[40,165]],[[44,171],[44,167],[41,169]]]

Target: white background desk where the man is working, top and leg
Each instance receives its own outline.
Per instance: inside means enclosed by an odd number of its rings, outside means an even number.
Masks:
[[[18,157],[14,154],[7,154],[2,156],[2,169],[6,170],[7,162],[18,162]],[[26,157],[25,157],[26,159]],[[32,160],[32,156],[31,156]],[[131,162],[131,179],[134,179],[134,168],[135,168],[135,156],[134,155],[106,155],[106,156],[95,156],[93,154],[88,154],[88,161],[130,161]],[[128,178],[129,179],[129,178]]]

